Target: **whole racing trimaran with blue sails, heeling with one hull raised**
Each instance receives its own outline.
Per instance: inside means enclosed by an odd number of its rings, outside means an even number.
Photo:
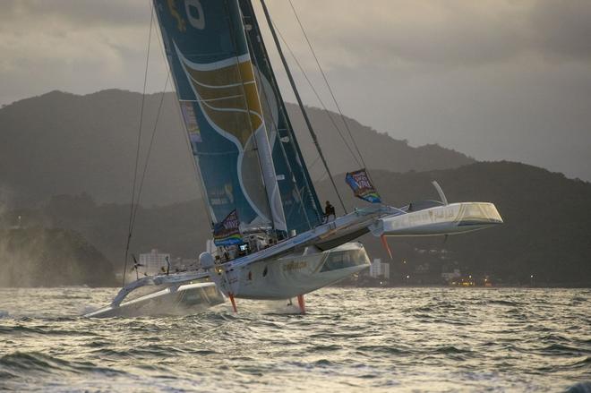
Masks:
[[[373,202],[326,217],[278,89],[252,0],[153,0],[214,239],[199,269],[140,278],[90,317],[185,314],[229,298],[297,298],[366,269],[361,235],[453,235],[502,223],[492,203],[381,203],[366,170],[347,174]],[[327,172],[264,0],[287,77]],[[334,184],[334,181],[333,181]],[[390,249],[388,249],[390,252]],[[133,298],[138,289],[150,294]],[[132,298],[130,300],[130,298]]]

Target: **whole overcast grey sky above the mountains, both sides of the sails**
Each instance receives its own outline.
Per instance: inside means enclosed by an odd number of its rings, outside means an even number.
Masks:
[[[591,1],[292,1],[346,115],[413,146],[591,181]],[[334,109],[288,0],[267,4]],[[2,0],[0,105],[50,90],[141,91],[149,31],[149,0]],[[149,92],[165,86],[158,39],[152,30]],[[272,50],[271,60],[295,101]]]

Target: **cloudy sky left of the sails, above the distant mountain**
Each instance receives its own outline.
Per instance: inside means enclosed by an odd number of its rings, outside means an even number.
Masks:
[[[141,90],[149,30],[147,1],[3,1],[0,102],[48,90]],[[167,72],[152,33],[151,91]]]

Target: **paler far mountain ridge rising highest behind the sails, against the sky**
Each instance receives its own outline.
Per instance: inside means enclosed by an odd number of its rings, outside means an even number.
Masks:
[[[146,97],[142,145],[147,151],[160,95]],[[100,202],[130,199],[141,94],[103,90],[79,96],[52,91],[0,109],[0,200],[27,206],[52,195],[88,192]],[[323,175],[297,107],[288,105],[304,157],[314,178]],[[333,173],[356,168],[328,115],[310,108]],[[333,114],[334,115],[334,114]],[[338,119],[336,115],[335,119]],[[473,162],[436,145],[413,148],[405,141],[347,120],[368,167],[396,172],[459,167]],[[165,95],[146,184],[145,206],[189,201],[200,195],[193,162],[172,93]]]

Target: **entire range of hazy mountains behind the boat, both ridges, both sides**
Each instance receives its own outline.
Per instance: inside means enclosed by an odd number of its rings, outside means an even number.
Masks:
[[[142,158],[159,98],[146,98]],[[87,96],[54,91],[0,109],[0,285],[112,282],[114,270],[123,267],[140,105],[139,94],[121,90]],[[301,118],[295,107],[289,110],[313,177],[321,178]],[[330,118],[317,109],[310,113],[333,173],[341,174],[336,181],[347,209],[364,205],[343,180],[357,165]],[[459,269],[499,284],[591,286],[591,184],[513,162],[475,162],[435,145],[413,148],[347,122],[385,202],[402,206],[436,199],[431,181],[437,180],[450,201],[492,201],[505,220],[445,243],[442,237],[390,239],[394,283],[440,283],[441,272]],[[132,252],[158,248],[195,259],[203,250],[210,229],[196,199],[200,192],[187,150],[174,99],[167,94]],[[330,183],[323,179],[316,185],[321,200],[338,208]],[[21,229],[11,229],[19,216]],[[362,241],[371,257],[388,260],[371,235]]]

